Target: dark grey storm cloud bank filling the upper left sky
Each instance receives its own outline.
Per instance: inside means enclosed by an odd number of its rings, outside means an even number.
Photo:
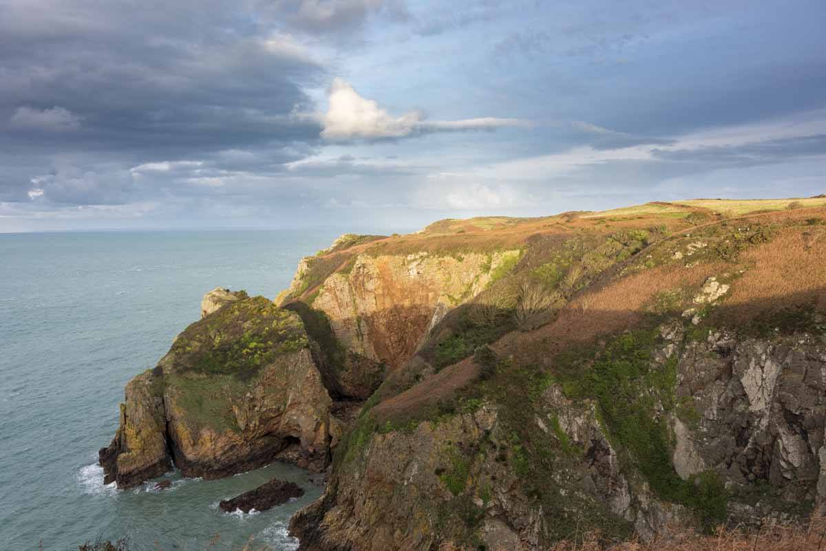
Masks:
[[[290,114],[322,71],[288,35],[226,3],[71,4],[0,8],[5,148],[151,157],[317,137]]]

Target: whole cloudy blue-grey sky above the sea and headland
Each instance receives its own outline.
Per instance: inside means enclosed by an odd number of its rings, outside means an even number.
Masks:
[[[826,2],[0,0],[0,232],[826,193]]]

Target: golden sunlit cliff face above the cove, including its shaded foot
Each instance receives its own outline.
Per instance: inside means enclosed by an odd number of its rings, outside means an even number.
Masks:
[[[320,363],[328,364],[327,388],[365,399],[388,370],[413,356],[445,314],[505,275],[520,250],[341,251],[360,237],[342,236],[321,256],[302,259],[292,285],[275,302],[301,313],[308,330],[324,327],[313,337],[326,344],[326,360]]]

